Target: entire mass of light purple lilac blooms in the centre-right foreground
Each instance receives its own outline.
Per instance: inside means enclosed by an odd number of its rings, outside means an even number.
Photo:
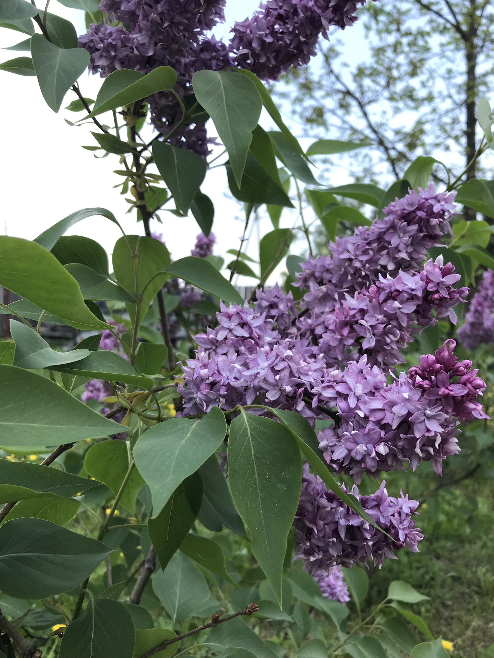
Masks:
[[[456,323],[454,306],[468,294],[454,287],[460,275],[442,256],[424,263],[425,251],[449,232],[453,199],[433,186],[410,191],[383,219],[330,243],[331,256],[310,257],[297,275],[299,310],[279,286],[256,291],[254,308],[221,303],[217,326],[194,337],[197,356],[182,365],[180,414],[256,403],[263,409],[251,413],[288,409],[313,426],[332,419],[317,434],[319,449],[329,468],[354,482],[364,473],[416,470],[420,460],[441,474],[443,460],[460,450],[458,426],[487,418],[478,399],[485,382],[454,355],[454,340],[408,372],[390,368],[402,363],[413,334],[438,318]],[[307,469],[296,555],[318,578],[335,564],[382,565],[404,545],[418,550],[417,501],[389,497],[384,482],[369,497],[352,489],[390,540]]]

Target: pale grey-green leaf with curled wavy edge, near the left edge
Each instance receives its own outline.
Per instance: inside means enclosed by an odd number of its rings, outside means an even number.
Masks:
[[[20,368],[49,368],[72,363],[90,355],[88,349],[57,352],[32,327],[18,320],[10,321],[11,336],[15,342],[14,366]]]

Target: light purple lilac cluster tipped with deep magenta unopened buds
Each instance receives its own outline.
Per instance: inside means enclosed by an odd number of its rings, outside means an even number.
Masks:
[[[355,482],[364,472],[377,477],[404,470],[404,463],[415,470],[420,459],[432,460],[441,474],[443,459],[460,451],[459,421],[487,418],[478,402],[485,382],[471,361],[453,355],[455,345],[450,340],[434,355],[422,355],[420,367],[402,372],[389,385],[366,356],[335,370],[333,381],[315,391],[315,399],[330,409],[336,405],[340,418],[337,426],[318,433],[327,463]]]

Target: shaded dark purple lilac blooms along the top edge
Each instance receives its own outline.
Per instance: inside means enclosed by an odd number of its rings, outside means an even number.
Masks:
[[[187,105],[190,83],[198,70],[240,66],[264,80],[277,80],[290,66],[308,63],[317,39],[329,26],[352,25],[357,5],[365,0],[269,0],[252,19],[236,22],[227,45],[207,36],[225,20],[225,0],[101,0],[111,26],[91,24],[79,45],[91,55],[89,69],[103,78],[119,68],[148,73],[157,66],[177,72],[175,91]],[[169,91],[148,98],[153,126],[167,135],[182,118],[180,105]],[[180,127],[171,142],[206,157],[204,124]]]

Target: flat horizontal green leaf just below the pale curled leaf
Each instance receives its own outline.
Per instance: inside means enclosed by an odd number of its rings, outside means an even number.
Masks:
[[[65,366],[53,366],[52,370],[78,374],[82,377],[106,379],[111,382],[134,384],[142,388],[153,388],[154,382],[149,377],[137,374],[136,369],[123,357],[106,349],[92,351],[89,356],[80,361]]]

